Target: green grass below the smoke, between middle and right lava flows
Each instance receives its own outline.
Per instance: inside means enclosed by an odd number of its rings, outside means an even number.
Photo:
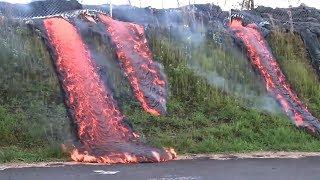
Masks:
[[[151,42],[168,75],[169,114],[152,117],[136,106],[125,107],[126,115],[148,143],[174,147],[179,153],[318,151],[320,141],[296,130],[287,118],[245,108],[243,99],[210,86],[188,68],[187,57],[178,45],[157,37]],[[226,52],[218,54],[228,61]]]

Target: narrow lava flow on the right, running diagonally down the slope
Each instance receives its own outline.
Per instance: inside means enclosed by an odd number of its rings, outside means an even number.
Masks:
[[[319,134],[319,121],[311,115],[286,82],[258,27],[255,24],[244,26],[242,20],[237,18],[232,20],[230,28],[246,46],[251,63],[259,70],[268,92],[277,99],[283,111],[294,120],[297,127]]]

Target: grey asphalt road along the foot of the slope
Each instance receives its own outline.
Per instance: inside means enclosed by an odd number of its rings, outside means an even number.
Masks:
[[[0,180],[320,180],[320,158],[180,160],[159,164],[7,169]]]

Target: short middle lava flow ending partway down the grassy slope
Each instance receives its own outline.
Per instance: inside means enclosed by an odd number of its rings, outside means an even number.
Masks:
[[[102,14],[98,17],[115,44],[120,65],[143,109],[156,116],[165,114],[166,81],[153,61],[143,27]]]

